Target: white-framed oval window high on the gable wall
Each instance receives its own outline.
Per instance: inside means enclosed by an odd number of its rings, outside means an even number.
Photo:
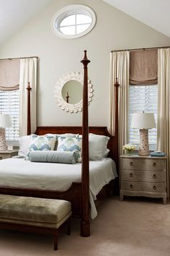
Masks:
[[[61,38],[80,38],[94,27],[96,16],[92,9],[81,4],[63,7],[53,17],[53,32]]]

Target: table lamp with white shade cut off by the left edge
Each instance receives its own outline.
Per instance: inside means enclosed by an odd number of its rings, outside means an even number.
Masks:
[[[9,114],[0,114],[0,150],[6,150],[5,128],[12,126]]]

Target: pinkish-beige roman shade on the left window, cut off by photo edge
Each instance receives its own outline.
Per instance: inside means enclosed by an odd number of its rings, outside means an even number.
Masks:
[[[19,59],[0,60],[0,90],[19,89]]]

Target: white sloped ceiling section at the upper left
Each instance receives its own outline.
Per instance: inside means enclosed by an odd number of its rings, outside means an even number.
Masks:
[[[0,0],[0,44],[52,0]]]

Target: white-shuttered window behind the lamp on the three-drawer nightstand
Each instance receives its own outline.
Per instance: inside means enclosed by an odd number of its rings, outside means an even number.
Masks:
[[[130,127],[133,113],[153,113],[157,123],[158,85],[130,85],[129,91],[129,142],[139,144],[139,129]],[[157,129],[148,130],[151,150],[156,150]]]

